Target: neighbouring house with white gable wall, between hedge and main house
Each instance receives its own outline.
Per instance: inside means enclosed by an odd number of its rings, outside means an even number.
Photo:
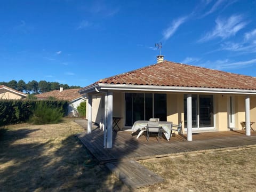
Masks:
[[[68,115],[76,116],[77,115],[77,107],[80,105],[81,102],[86,101],[86,98],[79,94],[77,91],[79,89],[67,89],[63,90],[60,87],[60,90],[54,90],[45,92],[42,94],[37,94],[35,97],[37,99],[49,99],[55,98],[57,100],[65,100],[69,102],[68,106]]]

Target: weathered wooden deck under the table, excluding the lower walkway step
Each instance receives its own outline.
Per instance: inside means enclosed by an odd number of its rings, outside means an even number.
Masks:
[[[155,137],[147,141],[145,135],[136,139],[137,135],[132,136],[131,132],[118,131],[113,134],[111,149],[103,148],[103,131],[100,129],[94,129],[90,134],[83,132],[77,137],[99,162],[107,163],[256,145],[256,132],[251,134],[248,137],[245,131],[195,133],[193,141],[182,140],[180,135],[176,135],[170,141],[162,138],[158,142]]]

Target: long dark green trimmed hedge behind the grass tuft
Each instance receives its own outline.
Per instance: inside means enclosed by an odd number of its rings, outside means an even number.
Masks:
[[[33,115],[36,103],[42,102],[49,107],[60,108],[67,115],[67,101],[53,100],[0,100],[0,126],[24,123]]]

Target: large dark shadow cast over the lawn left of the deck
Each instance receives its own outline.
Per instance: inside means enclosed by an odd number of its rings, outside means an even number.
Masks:
[[[42,142],[33,141],[33,137],[28,136],[33,131],[37,130],[7,130],[3,133],[0,140],[1,191],[129,190],[99,165],[74,135],[61,141],[49,139]],[[28,142],[18,142],[19,139]],[[124,148],[118,153],[129,151]]]

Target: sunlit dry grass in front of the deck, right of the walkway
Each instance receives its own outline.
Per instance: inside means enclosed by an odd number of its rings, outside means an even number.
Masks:
[[[256,147],[141,161],[165,179],[138,191],[255,191]]]

